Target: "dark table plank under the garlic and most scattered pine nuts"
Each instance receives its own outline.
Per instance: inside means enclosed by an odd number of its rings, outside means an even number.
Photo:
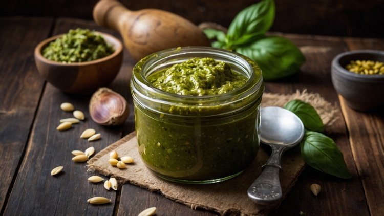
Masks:
[[[67,32],[77,27],[96,29],[112,33],[98,27],[92,21],[74,19],[59,19],[54,29],[54,35]],[[130,94],[128,81],[132,63],[125,53],[124,66],[118,78],[110,88],[127,98]],[[131,68],[127,68],[131,67]],[[87,173],[87,163],[76,163],[71,159],[72,150],[85,150],[94,146],[96,152],[117,141],[122,136],[122,127],[105,127],[92,121],[88,112],[91,95],[76,96],[62,93],[47,84],[33,125],[31,139],[28,142],[25,158],[19,169],[13,190],[11,192],[5,215],[112,215],[116,191],[105,190],[102,183],[90,183],[88,178],[94,173]],[[71,112],[60,109],[62,102],[71,102],[77,110],[86,115],[86,120],[74,124],[64,132],[56,130],[59,120],[72,117]],[[131,107],[132,111],[132,107]],[[133,112],[126,124],[133,124]],[[131,128],[130,126],[124,126]],[[101,133],[101,139],[88,142],[79,136],[87,128],[96,129]],[[132,128],[131,128],[132,129]],[[57,166],[64,166],[63,172],[51,176],[50,172]],[[119,191],[118,191],[119,192]],[[87,200],[91,197],[102,196],[112,200],[111,204],[91,205]]]

